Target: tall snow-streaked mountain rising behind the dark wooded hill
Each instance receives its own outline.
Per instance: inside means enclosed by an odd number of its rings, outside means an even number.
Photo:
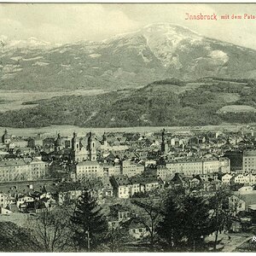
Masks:
[[[160,23],[102,42],[0,44],[0,89],[121,89],[176,77],[256,78],[256,50]],[[2,45],[2,46],[1,46]]]

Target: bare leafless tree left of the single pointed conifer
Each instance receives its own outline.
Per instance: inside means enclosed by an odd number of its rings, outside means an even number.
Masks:
[[[72,227],[67,209],[64,207],[55,207],[53,211],[42,212],[38,218],[30,220],[29,230],[44,252],[73,250]]]

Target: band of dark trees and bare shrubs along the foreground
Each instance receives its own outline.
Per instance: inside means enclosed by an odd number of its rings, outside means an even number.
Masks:
[[[9,226],[15,235],[5,236],[2,232],[0,250],[125,252],[131,245],[137,248],[143,245],[149,252],[216,250],[219,233],[230,230],[234,218],[229,196],[226,189],[218,189],[210,196],[191,194],[183,189],[170,189],[165,195],[154,191],[146,198],[127,201],[125,205],[130,208],[131,218],[109,226],[108,213],[99,206],[95,194],[86,190],[73,204],[69,202],[29,218],[26,228],[1,223]],[[148,232],[140,242],[131,237],[131,221]],[[211,234],[215,236],[212,244],[206,240]],[[13,239],[15,243],[11,242]],[[20,243],[26,247],[16,247]]]

